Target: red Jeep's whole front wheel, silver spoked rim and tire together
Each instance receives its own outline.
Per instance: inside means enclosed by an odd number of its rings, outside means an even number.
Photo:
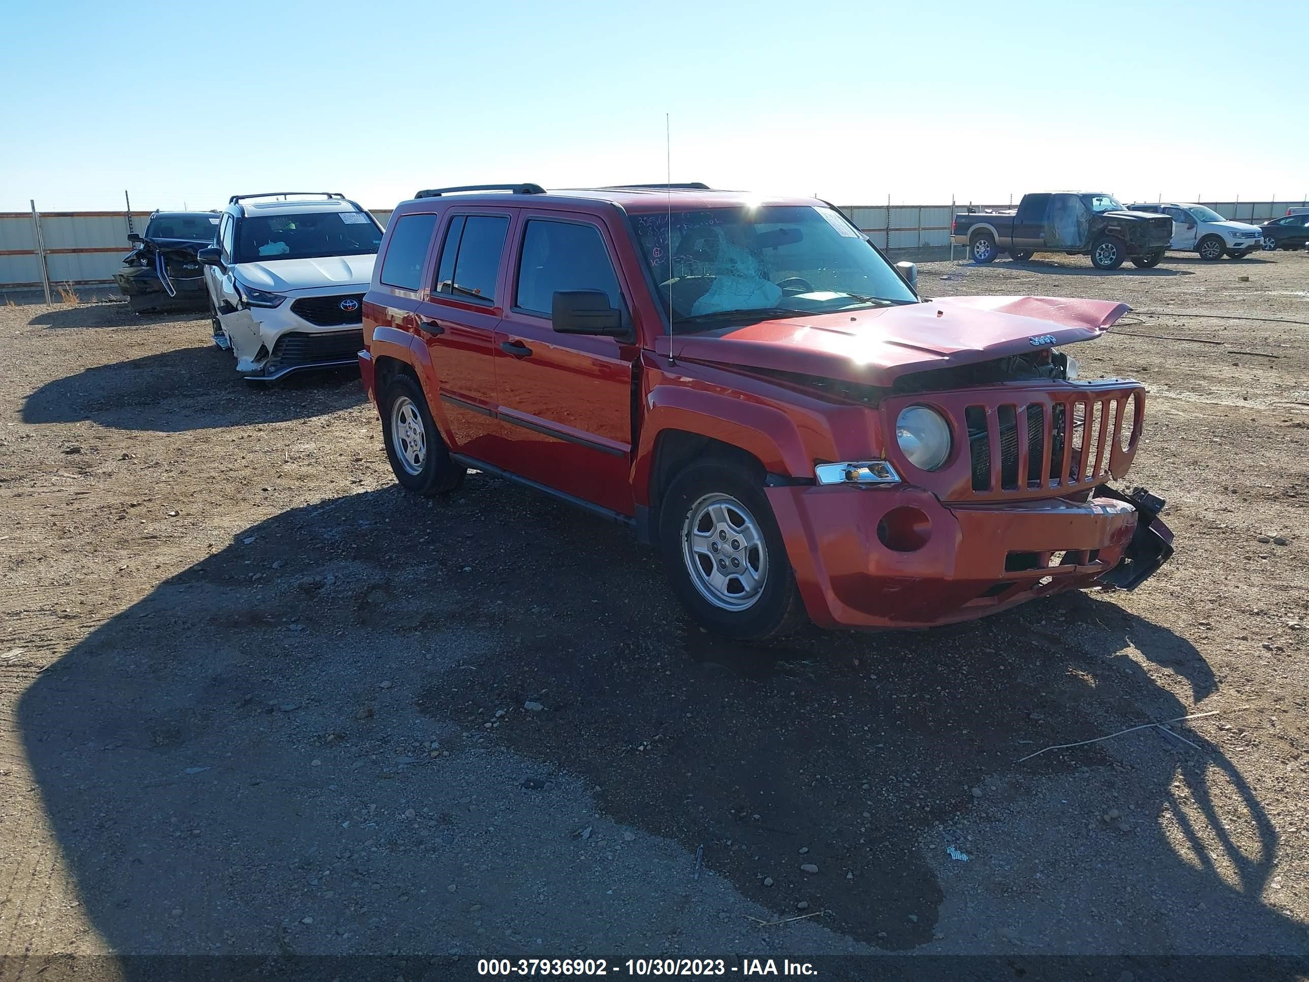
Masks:
[[[678,474],[660,507],[658,545],[698,622],[758,642],[793,630],[804,605],[768,499],[744,471],[709,460]]]

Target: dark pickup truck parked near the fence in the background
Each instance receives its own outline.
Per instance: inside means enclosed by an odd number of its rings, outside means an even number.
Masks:
[[[1016,212],[969,211],[950,227],[950,241],[967,246],[974,262],[988,263],[1000,253],[1020,261],[1064,253],[1089,255],[1097,270],[1117,270],[1126,259],[1143,270],[1158,266],[1172,238],[1172,219],[1084,191],[1025,194]]]

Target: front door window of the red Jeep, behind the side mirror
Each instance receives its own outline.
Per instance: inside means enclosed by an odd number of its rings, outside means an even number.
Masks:
[[[594,225],[533,219],[522,233],[514,306],[546,317],[556,291],[598,289],[620,306],[618,276]]]

